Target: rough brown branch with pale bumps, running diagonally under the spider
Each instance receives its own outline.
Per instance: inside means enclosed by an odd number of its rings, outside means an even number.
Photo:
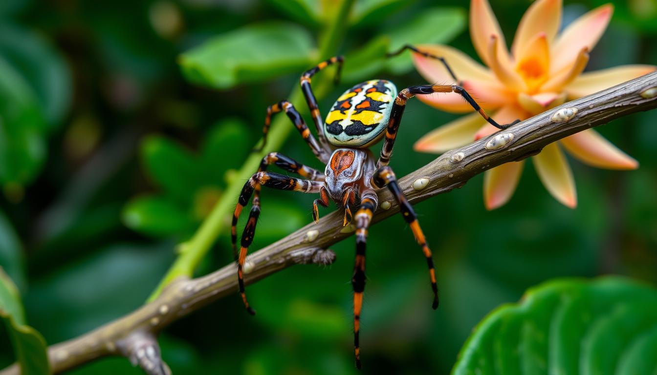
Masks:
[[[522,160],[538,154],[547,144],[579,131],[602,125],[616,118],[657,107],[657,72],[622,83],[522,121],[462,148],[445,152],[436,160],[399,179],[399,187],[412,203],[420,202],[463,186],[468,179],[500,164]],[[428,184],[417,190],[418,179]],[[419,184],[415,184],[419,185]],[[380,202],[389,202],[387,210],[379,208],[374,222],[399,211],[388,190],[380,190]],[[281,269],[298,263],[328,264],[335,254],[328,246],[351,235],[353,229],[342,227],[342,217],[333,212],[318,224],[306,227],[271,244],[248,258],[246,283],[256,282]],[[124,355],[149,374],[165,374],[154,337],[171,322],[219,298],[237,292],[237,267],[229,264],[210,275],[177,279],[151,303],[133,313],[110,322],[67,342],[49,348],[53,372],[58,373],[108,355]],[[235,298],[238,303],[238,298]],[[0,375],[18,374],[15,364]]]

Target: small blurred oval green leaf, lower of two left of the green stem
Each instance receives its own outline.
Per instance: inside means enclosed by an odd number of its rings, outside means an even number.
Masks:
[[[169,237],[191,227],[187,212],[160,196],[134,198],[125,206],[122,216],[126,227],[157,237]]]

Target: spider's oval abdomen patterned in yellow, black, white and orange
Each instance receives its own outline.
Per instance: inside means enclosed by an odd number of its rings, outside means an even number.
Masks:
[[[367,147],[384,135],[397,87],[385,79],[359,83],[333,104],[324,133],[336,146]]]

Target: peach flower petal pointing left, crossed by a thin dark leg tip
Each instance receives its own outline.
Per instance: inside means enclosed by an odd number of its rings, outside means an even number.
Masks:
[[[459,80],[494,81],[495,77],[484,66],[463,52],[448,45],[417,45],[420,51],[441,56]],[[430,83],[456,83],[442,62],[413,53],[413,64],[420,76]]]

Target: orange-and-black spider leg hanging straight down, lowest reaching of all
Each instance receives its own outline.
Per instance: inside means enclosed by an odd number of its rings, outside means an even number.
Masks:
[[[367,228],[376,210],[376,194],[363,194],[361,207],[356,211],[356,259],[351,276],[353,286],[353,354],[356,367],[361,368],[361,310],[363,308],[363,292],[365,291],[365,246],[367,243]]]

